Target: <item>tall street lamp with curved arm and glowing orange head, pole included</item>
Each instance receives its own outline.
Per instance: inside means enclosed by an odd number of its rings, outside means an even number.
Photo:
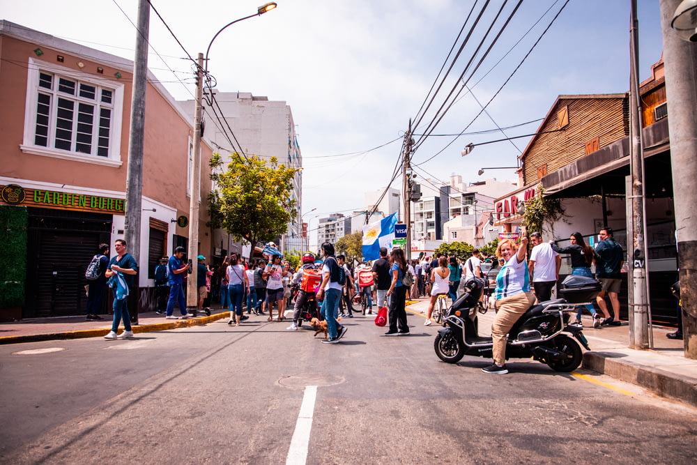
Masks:
[[[208,52],[210,52],[210,46],[213,45],[213,41],[217,36],[227,29],[227,27],[232,26],[236,22],[244,21],[250,19],[250,17],[263,15],[267,11],[276,8],[275,2],[265,3],[260,6],[254,15],[249,15],[241,17],[239,20],[234,20],[223,26],[220,31],[215,33],[208,47],[206,48],[206,59],[204,60],[204,54],[199,53],[197,60],[196,69],[196,96],[194,98],[194,153],[192,160],[191,169],[191,192],[189,199],[189,264],[190,264],[190,275],[186,284],[186,306],[187,309],[191,309],[195,316],[198,300],[198,289],[197,289],[197,266],[193,263],[194,257],[198,255],[199,252],[199,197],[201,194],[201,112],[202,112],[202,101],[204,96],[204,77],[208,74]]]

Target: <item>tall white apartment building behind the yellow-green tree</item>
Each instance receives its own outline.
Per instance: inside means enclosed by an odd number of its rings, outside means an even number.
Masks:
[[[284,101],[268,100],[268,97],[253,96],[249,92],[218,92],[215,93],[217,106],[208,107],[204,98],[204,137],[210,140],[222,155],[232,153],[228,138],[221,128],[234,133],[233,142],[247,155],[260,158],[277,158],[286,167],[301,168],[302,154],[296,136],[295,123],[291,107]],[[179,102],[192,121],[194,101]],[[218,108],[220,107],[220,109]],[[214,112],[215,109],[215,112]],[[220,121],[215,114],[222,117]],[[229,128],[228,128],[229,125]],[[225,159],[225,157],[224,157]],[[302,220],[300,206],[302,205],[302,170],[298,170],[293,179],[291,198],[296,200],[297,215],[288,224],[286,234],[279,238],[282,252],[286,250],[302,250]],[[228,234],[222,229],[213,232],[213,243],[222,250],[242,252],[239,244],[230,243]],[[227,246],[226,246],[227,245]]]

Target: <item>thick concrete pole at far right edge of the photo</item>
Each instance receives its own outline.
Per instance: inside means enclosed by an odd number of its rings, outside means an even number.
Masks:
[[[671,139],[673,202],[680,268],[682,334],[685,357],[697,359],[697,44],[681,40],[671,27],[680,0],[661,0],[666,66],[668,133]]]

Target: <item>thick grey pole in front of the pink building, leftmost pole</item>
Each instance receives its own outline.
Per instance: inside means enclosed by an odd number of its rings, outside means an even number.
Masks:
[[[138,34],[133,65],[133,90],[131,95],[130,137],[128,140],[128,171],[126,174],[126,204],[124,231],[130,253],[140,267],[136,276],[136,289],[142,270],[148,265],[140,261],[140,224],[143,215],[143,139],[145,134],[145,90],[148,78],[148,36],[150,34],[150,3],[138,3]],[[135,307],[131,309],[131,322],[138,324],[137,293]],[[133,300],[131,300],[132,302]]]

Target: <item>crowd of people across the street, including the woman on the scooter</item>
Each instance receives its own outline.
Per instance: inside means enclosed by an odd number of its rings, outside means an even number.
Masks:
[[[505,361],[505,337],[507,330],[535,300],[551,298],[552,291],[559,280],[561,255],[569,254],[572,274],[593,277],[591,266],[595,263],[602,291],[595,301],[599,308],[588,303],[585,309],[590,312],[593,326],[620,325],[619,287],[624,252],[613,238],[611,228],[599,231],[600,241],[592,249],[586,245],[583,236],[571,234],[571,244],[559,247],[554,241],[545,242],[542,234],[530,234],[532,249],[528,257],[527,239],[521,240],[521,248],[512,241],[502,241],[496,256],[501,265],[496,280],[487,284],[496,285],[497,315],[492,326],[494,340],[494,363],[488,372],[503,372]],[[93,258],[86,277],[89,280],[89,298],[86,310],[87,319],[101,319],[98,309],[103,303],[107,280],[114,289],[114,323],[107,339],[130,337],[130,314],[126,297],[135,283],[138,265],[126,253],[125,241],[115,243],[116,257],[107,257],[109,247],[100,244],[98,254]],[[437,253],[435,257],[422,257],[407,261],[404,250],[395,247],[388,251],[381,247],[380,258],[373,262],[362,262],[355,268],[346,263],[342,254],[335,255],[331,243],[321,245],[321,257],[307,253],[302,257],[302,266],[293,269],[275,244],[268,244],[263,258],[247,261],[238,254],[226,257],[222,264],[210,267],[206,257],[197,257],[197,309],[212,300],[229,308],[229,325],[240,326],[252,312],[268,315],[268,321],[284,321],[286,308],[292,313],[292,323],[288,330],[297,330],[302,317],[307,312],[309,300],[319,303],[316,316],[327,323],[327,337],[322,342],[335,344],[346,334],[346,327],[340,323],[342,318],[353,318],[353,303],[365,299],[364,313],[373,313],[373,307],[387,307],[387,336],[408,335],[406,321],[407,298],[429,298],[427,318],[424,325],[431,325],[431,315],[439,296],[447,296],[452,302],[461,295],[465,282],[473,277],[484,277],[483,264],[491,261],[480,250],[473,250],[468,259],[459,261],[456,257],[445,257]],[[185,263],[185,250],[176,247],[171,257],[162,257],[154,269],[155,305],[158,314],[166,319],[186,319],[185,277],[190,265]],[[495,268],[495,266],[494,266]],[[406,277],[413,277],[406,285]],[[413,281],[413,284],[411,282]],[[609,298],[608,307],[605,297]],[[355,297],[355,298],[354,298]],[[295,304],[293,305],[293,300]],[[313,304],[314,305],[314,304]],[[174,315],[178,307],[179,315]],[[247,315],[243,310],[246,308]],[[274,311],[275,309],[275,311]],[[341,309],[339,311],[339,309]],[[503,310],[503,312],[501,311]],[[612,313],[610,312],[612,310]],[[581,324],[579,307],[576,324]],[[604,316],[601,319],[600,314]],[[275,315],[275,318],[274,318]],[[117,335],[118,323],[123,320],[125,330]],[[503,345],[502,345],[503,344]],[[503,348],[503,349],[502,349]],[[485,370],[487,371],[487,370]]]

